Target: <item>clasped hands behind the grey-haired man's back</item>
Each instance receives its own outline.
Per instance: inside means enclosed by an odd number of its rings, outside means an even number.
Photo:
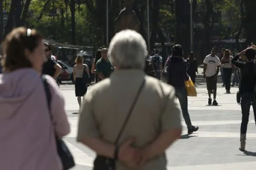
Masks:
[[[119,160],[131,169],[141,169],[145,162],[148,160],[146,149],[137,149],[131,146],[134,138],[129,139],[120,146],[118,152]]]

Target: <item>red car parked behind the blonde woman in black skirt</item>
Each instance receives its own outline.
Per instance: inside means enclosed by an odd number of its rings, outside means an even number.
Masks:
[[[70,66],[68,64],[68,62],[64,62],[64,61],[60,61],[60,60],[58,60],[57,62],[62,68],[61,73],[57,77],[57,80],[59,81],[59,83],[61,83],[61,81],[72,81],[74,83],[73,67]]]

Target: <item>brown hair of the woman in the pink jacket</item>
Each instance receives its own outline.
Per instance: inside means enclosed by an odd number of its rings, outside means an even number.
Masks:
[[[25,56],[25,49],[34,51],[41,40],[41,34],[35,29],[15,28],[5,37],[1,45],[1,52],[4,56],[1,62],[2,67],[8,71],[32,68],[32,64]]]

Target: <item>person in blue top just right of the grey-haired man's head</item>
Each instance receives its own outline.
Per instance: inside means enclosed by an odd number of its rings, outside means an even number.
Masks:
[[[150,58],[150,61],[154,67],[155,74],[158,80],[161,80],[162,74],[162,57],[159,55],[159,51],[155,51],[155,55]]]

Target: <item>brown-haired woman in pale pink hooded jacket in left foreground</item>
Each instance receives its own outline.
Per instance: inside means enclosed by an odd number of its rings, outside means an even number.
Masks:
[[[54,133],[70,132],[58,85],[46,77],[51,113],[40,78],[45,61],[42,36],[36,30],[14,29],[2,44],[5,70],[0,74],[0,169],[62,170]]]

